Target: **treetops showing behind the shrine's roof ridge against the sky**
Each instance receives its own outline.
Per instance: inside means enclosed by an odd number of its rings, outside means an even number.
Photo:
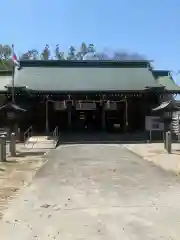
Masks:
[[[53,53],[53,55],[51,55]],[[9,45],[0,44],[0,70],[12,69],[12,49]],[[89,55],[89,56],[88,56]],[[90,43],[86,44],[82,42],[79,49],[73,45],[70,46],[67,54],[61,51],[59,44],[51,52],[49,45],[46,44],[41,52],[36,49],[28,50],[26,53],[20,56],[20,60],[83,60],[84,56],[88,56],[87,59],[92,60],[144,60],[144,56],[138,53],[128,53],[127,51],[112,51],[111,56],[106,52],[96,51],[95,45]],[[86,59],[86,57],[85,57]]]

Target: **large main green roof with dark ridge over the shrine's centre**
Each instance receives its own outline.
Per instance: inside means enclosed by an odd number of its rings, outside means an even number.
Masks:
[[[148,62],[83,61],[41,66],[40,62],[22,63],[15,72],[15,85],[35,91],[141,91],[158,85]],[[57,61],[55,61],[57,64]],[[46,63],[47,64],[47,63]],[[74,66],[74,67],[73,67]]]

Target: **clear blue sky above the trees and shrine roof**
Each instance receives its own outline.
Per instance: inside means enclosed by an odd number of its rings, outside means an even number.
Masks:
[[[14,43],[18,54],[46,43],[64,51],[85,41],[180,69],[179,0],[6,0],[0,6],[1,42]]]

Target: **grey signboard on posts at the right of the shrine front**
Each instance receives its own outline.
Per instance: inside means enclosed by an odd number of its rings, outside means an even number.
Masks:
[[[160,122],[160,117],[146,116],[145,127],[147,131],[163,131],[164,123]]]

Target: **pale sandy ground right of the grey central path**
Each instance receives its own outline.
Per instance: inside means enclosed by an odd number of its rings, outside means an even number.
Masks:
[[[180,174],[180,144],[172,144],[172,154],[167,153],[163,143],[137,143],[123,146],[166,171]]]

